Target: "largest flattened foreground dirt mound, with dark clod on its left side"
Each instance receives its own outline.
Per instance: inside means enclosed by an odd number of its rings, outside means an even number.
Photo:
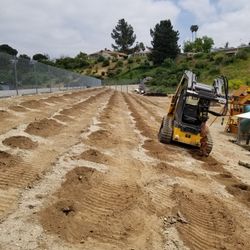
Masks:
[[[136,185],[105,180],[104,175],[88,168],[69,172],[58,201],[40,213],[43,227],[72,243],[91,238],[125,249],[128,239],[144,230],[141,191]]]

